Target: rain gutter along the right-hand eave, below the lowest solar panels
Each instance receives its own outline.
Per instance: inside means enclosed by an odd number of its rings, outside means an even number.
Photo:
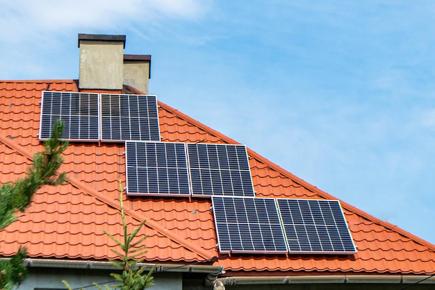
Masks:
[[[270,277],[225,277],[217,278],[213,289],[231,288],[249,284],[435,284],[432,275],[319,275],[319,276],[270,276]],[[218,286],[217,286],[218,285]],[[223,288],[222,288],[223,286]]]

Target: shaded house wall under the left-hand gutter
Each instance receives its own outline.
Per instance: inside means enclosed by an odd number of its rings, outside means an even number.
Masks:
[[[62,280],[66,280],[72,289],[86,287],[92,283],[114,284],[110,273],[113,271],[68,269],[68,268],[28,268],[28,278],[18,287],[18,290],[34,289],[66,289]],[[155,273],[155,287],[151,289],[181,290],[183,289],[182,273]],[[88,289],[95,289],[90,287]]]

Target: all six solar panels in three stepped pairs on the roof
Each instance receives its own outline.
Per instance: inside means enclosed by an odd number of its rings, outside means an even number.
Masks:
[[[211,196],[220,253],[356,253],[338,201],[255,198],[245,146],[158,142],[156,96],[43,92],[40,139],[58,119],[63,139],[132,140],[127,194]]]

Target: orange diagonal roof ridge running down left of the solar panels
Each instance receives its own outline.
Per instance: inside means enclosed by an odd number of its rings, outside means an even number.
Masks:
[[[9,148],[12,148],[13,150],[17,151],[17,153],[28,158],[28,160],[33,160],[33,154],[30,151],[26,150],[26,148],[23,148],[22,146],[13,142],[12,140],[4,137],[3,135],[0,135],[0,142],[5,144]],[[98,191],[88,187],[83,182],[77,180],[76,178],[68,178],[68,179],[69,179],[69,183],[71,185],[73,185],[74,187],[77,187],[79,189],[83,189],[83,191],[88,192],[88,194],[90,194],[91,196],[94,196],[99,201],[106,203],[106,205],[108,205],[110,207],[118,208],[117,204],[115,204],[114,201],[110,200],[110,198],[107,198],[106,196],[99,194]],[[126,214],[129,214],[129,216],[133,217],[133,219],[137,219],[138,221],[143,221],[145,218],[144,216],[142,216],[141,214],[138,214],[138,212],[136,212],[133,209],[126,209],[126,210],[124,209],[124,211],[126,212]],[[179,235],[172,233],[170,230],[159,225],[157,222],[147,220],[147,221],[145,221],[145,225],[149,226],[149,228],[156,230],[157,232],[160,232],[165,237],[172,239],[172,241],[177,242],[177,244],[180,244],[181,246],[187,248],[188,250],[191,250],[193,253],[197,253],[198,255],[204,257],[205,259],[210,260],[213,258],[210,256],[210,253],[208,253],[206,250],[195,246],[194,244],[190,243],[189,241],[186,241],[186,239],[180,238]]]

